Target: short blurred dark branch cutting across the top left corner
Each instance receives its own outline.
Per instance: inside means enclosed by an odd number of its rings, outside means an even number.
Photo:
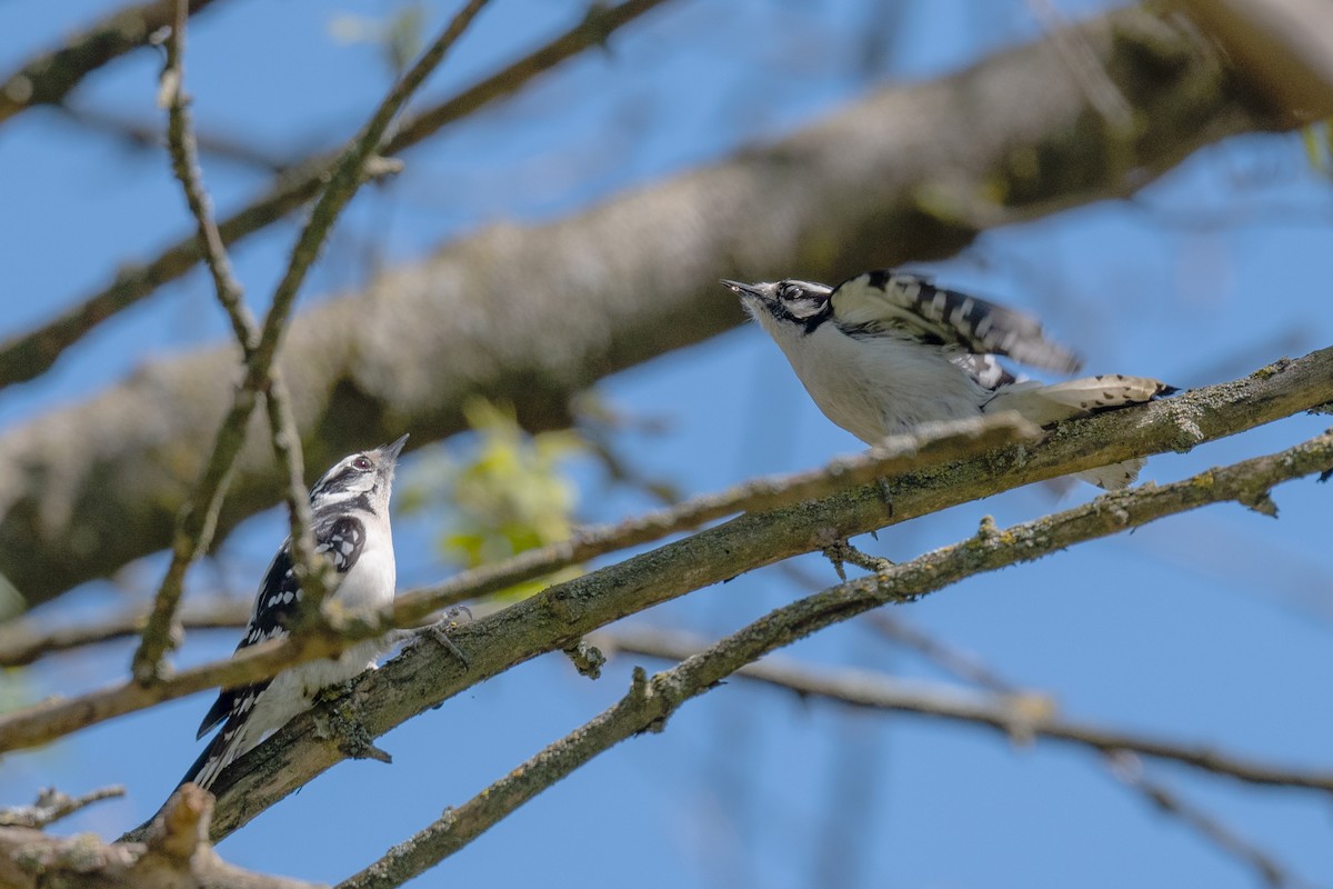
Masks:
[[[189,13],[213,0],[191,0]],[[127,52],[148,44],[160,28],[172,23],[175,0],[153,0],[117,9],[101,21],[73,35],[60,49],[28,61],[0,83],[0,124],[33,105],[64,101],[85,76]]]

